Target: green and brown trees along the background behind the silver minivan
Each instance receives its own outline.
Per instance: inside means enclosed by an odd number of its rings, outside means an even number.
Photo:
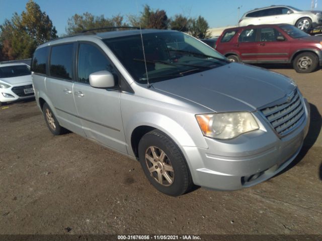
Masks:
[[[67,21],[66,36],[107,26],[135,26],[178,30],[199,39],[210,37],[207,32],[209,25],[201,16],[188,18],[179,14],[169,18],[165,10],[153,10],[145,5],[138,16],[126,17],[127,21],[120,14],[112,18],[106,18],[104,15],[94,16],[88,12],[82,15],[75,14]],[[106,31],[112,30],[102,30],[102,32]],[[20,15],[15,13],[11,19],[6,19],[4,24],[0,25],[0,61],[31,58],[38,45],[57,37],[56,28],[49,16],[41,11],[38,4],[29,0],[25,11]]]

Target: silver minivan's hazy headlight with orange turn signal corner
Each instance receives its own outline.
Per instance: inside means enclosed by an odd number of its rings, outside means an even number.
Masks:
[[[259,129],[250,112],[196,114],[196,119],[203,135],[214,139],[232,139]]]

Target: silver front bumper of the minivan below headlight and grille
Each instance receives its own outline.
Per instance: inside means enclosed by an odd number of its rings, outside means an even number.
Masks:
[[[308,132],[309,104],[303,101],[304,121],[281,139],[271,131],[259,130],[229,142],[206,138],[208,149],[183,147],[194,183],[215,190],[237,190],[282,171],[300,152]],[[269,126],[265,128],[269,130]]]

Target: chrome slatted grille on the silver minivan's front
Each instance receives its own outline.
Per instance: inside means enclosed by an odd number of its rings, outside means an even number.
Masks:
[[[297,90],[291,94],[289,102],[274,105],[261,111],[266,116],[267,121],[281,136],[285,136],[293,131],[303,121],[305,116],[304,106]]]

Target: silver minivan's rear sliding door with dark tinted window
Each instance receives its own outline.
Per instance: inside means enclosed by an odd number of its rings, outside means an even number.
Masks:
[[[54,45],[50,49],[49,77],[46,77],[46,89],[52,101],[59,124],[66,129],[83,135],[81,121],[72,94],[74,44]]]

